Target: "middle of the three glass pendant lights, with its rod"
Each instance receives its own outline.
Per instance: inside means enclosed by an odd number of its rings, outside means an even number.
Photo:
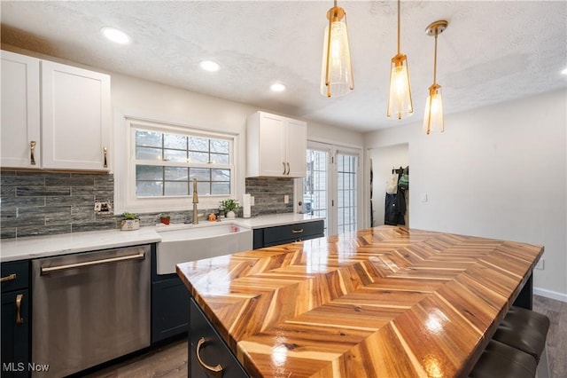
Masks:
[[[388,98],[388,118],[399,120],[402,114],[414,114],[409,85],[408,59],[400,53],[400,0],[398,0],[398,53],[392,58],[390,70],[390,96]]]

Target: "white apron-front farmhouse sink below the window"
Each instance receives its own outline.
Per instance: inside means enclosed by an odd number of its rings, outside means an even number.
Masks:
[[[175,264],[252,249],[252,230],[230,222],[184,224],[156,230],[158,274],[175,273]]]

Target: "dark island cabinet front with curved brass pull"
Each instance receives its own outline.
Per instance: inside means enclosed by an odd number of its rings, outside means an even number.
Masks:
[[[199,340],[203,339],[199,343]],[[246,378],[245,369],[232,354],[211,322],[198,307],[193,298],[190,299],[189,311],[189,376],[191,378]],[[200,361],[199,361],[200,358]],[[214,373],[215,367],[221,371]],[[207,370],[209,369],[209,370]]]

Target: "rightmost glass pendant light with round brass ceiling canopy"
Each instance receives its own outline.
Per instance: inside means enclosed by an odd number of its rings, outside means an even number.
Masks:
[[[431,131],[445,131],[443,122],[443,98],[441,98],[441,86],[437,83],[437,36],[447,28],[445,20],[435,21],[425,29],[427,35],[435,36],[435,58],[433,60],[433,84],[429,87],[429,97],[425,104],[425,116],[423,117],[423,131],[430,134]]]

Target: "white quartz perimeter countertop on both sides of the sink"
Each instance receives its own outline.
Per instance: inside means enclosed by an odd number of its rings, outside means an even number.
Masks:
[[[273,227],[283,224],[297,224],[323,219],[306,214],[286,213],[252,218],[223,219],[221,222],[237,224],[252,229]],[[135,231],[104,230],[90,232],[62,233],[47,236],[30,236],[26,238],[0,241],[0,262],[26,260],[29,258],[59,256],[98,249],[135,246],[156,243],[161,240],[159,231],[206,227],[207,221],[199,220],[199,224],[169,224],[142,227]]]

